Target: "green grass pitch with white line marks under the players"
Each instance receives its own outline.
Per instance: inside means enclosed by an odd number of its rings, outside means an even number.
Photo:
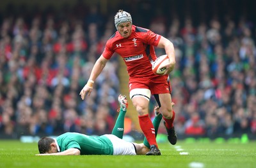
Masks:
[[[0,167],[256,167],[256,141],[159,143],[161,156],[35,156],[36,143],[0,141]]]

